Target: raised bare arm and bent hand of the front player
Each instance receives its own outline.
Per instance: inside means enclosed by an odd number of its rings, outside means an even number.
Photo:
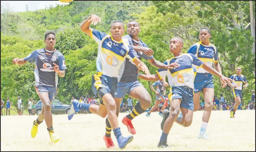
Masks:
[[[88,36],[91,36],[90,24],[97,25],[98,22],[101,22],[101,18],[99,18],[95,14],[92,14],[81,24],[80,29],[83,32],[85,32]]]

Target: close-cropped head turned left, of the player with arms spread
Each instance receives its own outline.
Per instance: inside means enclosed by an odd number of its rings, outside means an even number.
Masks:
[[[175,36],[170,40],[170,52],[171,53],[178,53],[181,52],[183,48],[183,39],[179,36]]]

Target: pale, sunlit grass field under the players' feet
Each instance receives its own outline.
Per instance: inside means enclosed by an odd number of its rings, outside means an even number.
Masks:
[[[118,120],[122,134],[130,135],[121,122],[127,113],[121,113]],[[145,113],[133,120],[136,135],[123,151],[255,151],[255,110],[238,110],[236,118],[229,118],[229,111],[213,111],[207,127],[211,141],[197,139],[203,112],[194,113],[190,127],[174,123],[167,143],[169,148],[159,149],[162,117],[157,112],[146,117]],[[72,120],[67,114],[53,115],[53,127],[61,140],[50,141],[46,124],[38,128],[38,134],[31,138],[32,122],[37,116],[1,116],[1,151],[108,151],[103,141],[105,119],[95,114],[77,114]],[[112,132],[115,147],[110,151],[122,151]]]

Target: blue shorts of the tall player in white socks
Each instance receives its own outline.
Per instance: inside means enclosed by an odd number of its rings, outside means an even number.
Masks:
[[[203,88],[214,88],[212,74],[196,73],[196,77],[194,78],[194,93],[201,92]]]

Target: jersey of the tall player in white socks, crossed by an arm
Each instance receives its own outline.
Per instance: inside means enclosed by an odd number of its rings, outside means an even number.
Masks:
[[[210,43],[210,45],[206,46],[200,41],[192,46],[190,46],[187,53],[194,54],[198,57],[199,60],[203,61],[204,64],[208,64],[209,66],[213,66],[213,61],[218,62],[218,51],[217,48]],[[197,73],[208,73],[201,67],[193,65],[196,69]]]

